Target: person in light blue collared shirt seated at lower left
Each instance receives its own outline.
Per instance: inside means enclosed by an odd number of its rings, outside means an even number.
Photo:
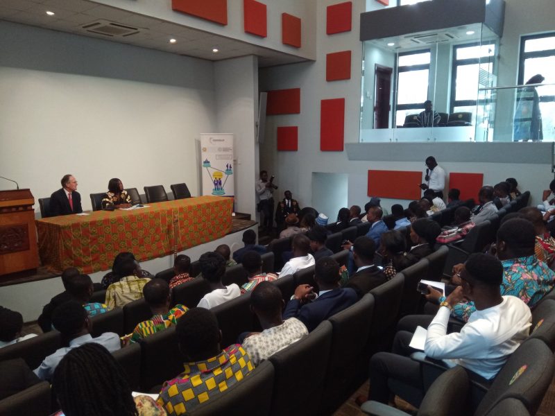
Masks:
[[[51,380],[56,366],[65,354],[86,343],[97,343],[103,345],[110,352],[120,348],[119,336],[117,333],[105,332],[101,336],[92,338],[91,323],[87,311],[75,300],[70,300],[56,308],[52,315],[54,328],[62,334],[62,340],[68,347],[58,349],[54,354],[44,358],[41,365],[35,368],[34,372],[41,380]]]

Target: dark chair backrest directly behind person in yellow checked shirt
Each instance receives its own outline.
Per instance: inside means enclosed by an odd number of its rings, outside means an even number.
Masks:
[[[260,415],[270,413],[274,369],[270,361],[262,361],[241,383],[234,383],[210,400],[187,412],[191,416]]]

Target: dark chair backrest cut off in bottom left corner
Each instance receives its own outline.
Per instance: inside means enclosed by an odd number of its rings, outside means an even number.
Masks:
[[[51,389],[48,381],[0,400],[0,416],[48,416],[51,414]]]

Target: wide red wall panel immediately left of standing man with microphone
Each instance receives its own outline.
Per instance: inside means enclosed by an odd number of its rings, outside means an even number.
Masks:
[[[419,200],[422,172],[368,171],[368,196]]]

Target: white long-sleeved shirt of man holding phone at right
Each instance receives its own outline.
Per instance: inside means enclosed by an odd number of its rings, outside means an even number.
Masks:
[[[447,334],[450,310],[443,306],[429,324],[424,352],[462,365],[485,379],[493,379],[530,331],[530,309],[515,296],[504,296],[492,308],[475,311],[461,332]]]

